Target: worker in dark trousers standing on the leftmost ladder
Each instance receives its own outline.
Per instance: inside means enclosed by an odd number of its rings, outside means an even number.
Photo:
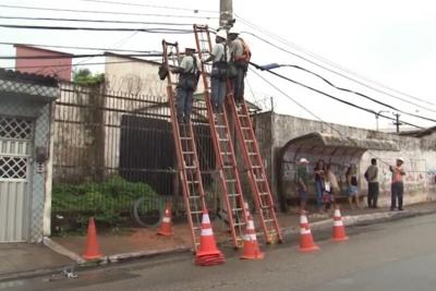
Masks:
[[[195,49],[185,48],[185,56],[179,68],[173,68],[172,73],[180,74],[177,85],[177,111],[179,123],[191,121],[192,96],[197,88],[199,68],[194,56]]]

